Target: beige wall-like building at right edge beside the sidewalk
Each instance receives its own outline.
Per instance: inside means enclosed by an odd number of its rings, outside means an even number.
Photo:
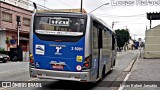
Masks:
[[[145,33],[144,58],[160,58],[160,25]]]

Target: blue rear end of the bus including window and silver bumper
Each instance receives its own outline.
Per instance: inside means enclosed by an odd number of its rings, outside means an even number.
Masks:
[[[35,14],[30,75],[42,79],[90,81],[85,57],[86,15]]]

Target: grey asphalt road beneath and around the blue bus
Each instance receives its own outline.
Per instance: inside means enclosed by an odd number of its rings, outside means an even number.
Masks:
[[[128,72],[124,72],[129,63],[135,59],[139,51],[127,51],[118,53],[116,66],[109,72],[102,82],[98,83],[78,83],[73,81],[43,81],[29,77],[28,62],[7,62],[0,63],[0,81],[39,81],[41,88],[7,88],[9,90],[55,90],[55,89],[92,89],[92,90],[118,90],[114,86],[116,81],[123,81]],[[0,90],[6,88],[0,88]]]

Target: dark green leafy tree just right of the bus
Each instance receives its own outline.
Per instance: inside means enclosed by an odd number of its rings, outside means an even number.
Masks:
[[[126,42],[128,42],[130,34],[128,29],[117,29],[115,32],[117,35],[117,46],[120,50],[120,48],[123,47]]]

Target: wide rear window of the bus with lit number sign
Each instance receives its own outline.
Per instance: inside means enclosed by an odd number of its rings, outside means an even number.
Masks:
[[[76,17],[36,17],[35,32],[38,34],[81,36],[86,21]]]

